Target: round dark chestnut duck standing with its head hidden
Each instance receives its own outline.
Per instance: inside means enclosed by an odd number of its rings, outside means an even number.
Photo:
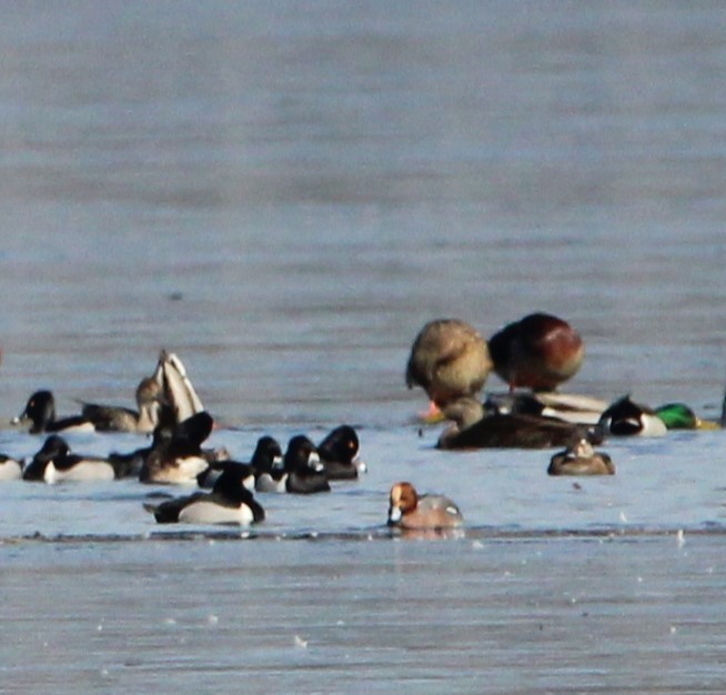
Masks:
[[[487,342],[494,372],[510,385],[555,391],[585,359],[581,335],[566,321],[536,312],[505,325]]]

